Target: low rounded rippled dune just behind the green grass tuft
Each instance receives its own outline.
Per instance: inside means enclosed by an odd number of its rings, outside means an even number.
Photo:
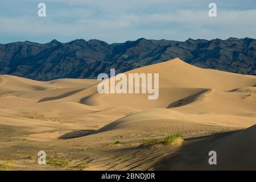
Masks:
[[[195,137],[214,134],[216,131],[229,131],[238,127],[249,127],[255,123],[252,117],[232,117],[232,115],[214,114],[185,114],[170,109],[150,109],[130,114],[117,119],[109,125],[102,127],[93,134],[106,133],[134,133],[174,135],[183,134],[183,137]],[[207,119],[206,119],[207,118]],[[232,120],[232,122],[230,122]]]

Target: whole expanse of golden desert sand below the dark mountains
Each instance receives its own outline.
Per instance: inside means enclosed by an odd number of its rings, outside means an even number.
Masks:
[[[100,81],[92,79],[0,75],[2,168],[256,170],[256,76],[197,68],[177,58],[128,73],[159,73],[159,98],[99,94]],[[143,145],[175,134],[183,142]],[[41,150],[46,165],[38,164]],[[211,150],[217,165],[208,163]]]

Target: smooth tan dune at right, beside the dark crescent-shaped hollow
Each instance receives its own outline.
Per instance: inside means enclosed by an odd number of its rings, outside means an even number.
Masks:
[[[184,113],[255,116],[255,98],[248,98],[247,96],[249,96],[249,93],[209,90],[208,92],[200,93],[196,96],[193,95],[184,98],[183,101],[175,102],[172,106],[174,106],[173,109]],[[251,95],[251,97],[253,97],[253,95]]]

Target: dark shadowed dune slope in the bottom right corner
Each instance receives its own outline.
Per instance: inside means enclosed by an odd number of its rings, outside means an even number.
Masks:
[[[233,134],[197,140],[167,156],[155,169],[255,170],[256,125]],[[209,165],[209,151],[216,151],[217,165]]]

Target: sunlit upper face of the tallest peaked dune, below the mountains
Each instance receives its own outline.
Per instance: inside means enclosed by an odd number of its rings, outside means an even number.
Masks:
[[[159,73],[160,88],[211,88],[226,91],[255,84],[255,76],[197,68],[178,58],[133,69],[127,73]]]

